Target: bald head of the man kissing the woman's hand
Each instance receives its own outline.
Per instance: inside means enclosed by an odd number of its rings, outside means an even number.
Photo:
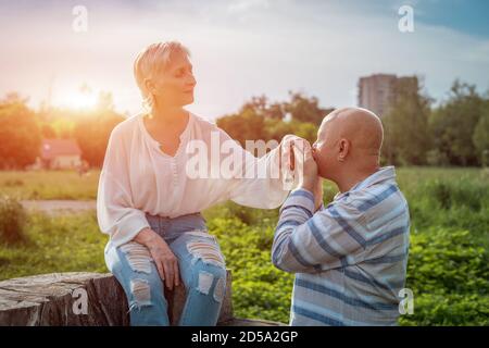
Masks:
[[[361,108],[343,108],[322,122],[313,156],[323,177],[343,171],[369,171],[378,166],[384,128],[380,120]]]

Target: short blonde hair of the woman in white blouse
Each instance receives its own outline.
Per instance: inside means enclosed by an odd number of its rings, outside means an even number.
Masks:
[[[151,44],[143,49],[134,61],[134,77],[142,95],[142,104],[151,109],[154,104],[154,96],[146,87],[146,80],[164,71],[174,53],[190,57],[189,50],[178,41]]]

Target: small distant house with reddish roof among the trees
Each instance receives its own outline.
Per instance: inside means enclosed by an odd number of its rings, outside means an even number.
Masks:
[[[35,169],[79,169],[83,164],[82,150],[75,139],[42,139],[39,152]]]

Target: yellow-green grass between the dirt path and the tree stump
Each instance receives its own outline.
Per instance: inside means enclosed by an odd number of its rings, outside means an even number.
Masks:
[[[106,272],[95,212],[48,216],[29,214],[27,240],[0,244],[0,279],[52,272]]]

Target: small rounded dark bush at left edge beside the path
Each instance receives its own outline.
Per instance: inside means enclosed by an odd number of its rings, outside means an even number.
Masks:
[[[24,207],[14,198],[0,197],[0,241],[15,244],[25,241],[26,223]]]

